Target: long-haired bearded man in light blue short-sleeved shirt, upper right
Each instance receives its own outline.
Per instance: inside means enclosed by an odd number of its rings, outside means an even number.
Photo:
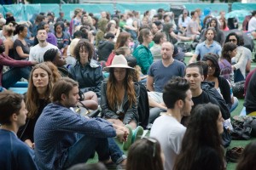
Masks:
[[[208,27],[205,33],[205,37],[207,38],[204,42],[199,43],[195,48],[195,54],[189,60],[189,63],[194,63],[197,58],[201,60],[203,56],[207,53],[218,54],[221,56],[221,46],[218,42],[215,42],[213,39],[216,36],[216,31],[213,27]]]

